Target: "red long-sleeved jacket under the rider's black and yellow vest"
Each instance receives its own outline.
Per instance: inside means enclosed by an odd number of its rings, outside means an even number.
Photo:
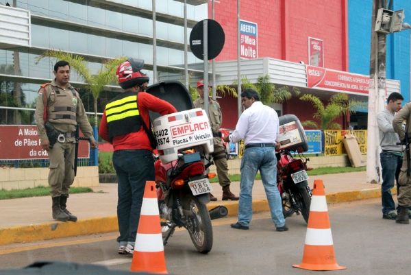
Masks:
[[[158,112],[160,115],[168,115],[177,112],[173,105],[169,102],[159,99],[149,93],[140,92],[137,95],[138,111],[144,121],[145,125],[149,127],[149,110]],[[105,117],[105,110],[101,118],[99,136],[105,141],[110,141],[108,137],[107,118]],[[112,141],[114,151],[117,150],[136,150],[145,149],[152,150],[149,136],[147,136],[144,128],[138,132],[132,132],[123,136],[114,136]]]

